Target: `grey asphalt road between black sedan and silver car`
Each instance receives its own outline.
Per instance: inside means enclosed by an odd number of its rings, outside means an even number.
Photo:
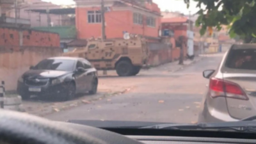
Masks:
[[[125,120],[195,123],[207,79],[206,69],[215,69],[222,54],[204,56],[179,72],[149,71],[136,77],[104,77],[134,85],[129,93],[97,100],[67,111],[45,116],[51,120]],[[163,67],[163,66],[162,66]],[[157,69],[156,69],[157,70]]]

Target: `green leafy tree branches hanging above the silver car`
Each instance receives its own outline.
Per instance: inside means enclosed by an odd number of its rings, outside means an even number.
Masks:
[[[254,42],[256,37],[256,0],[184,0],[189,7],[190,1],[196,1],[200,10],[196,26],[204,35],[209,28],[220,31],[221,26],[230,28],[229,35],[239,36],[244,42]]]

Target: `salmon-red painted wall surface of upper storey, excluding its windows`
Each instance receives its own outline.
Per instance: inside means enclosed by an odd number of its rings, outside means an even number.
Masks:
[[[100,8],[76,8],[77,38],[79,39],[91,38],[92,36],[97,38],[101,36],[101,23],[90,24],[87,22],[87,12],[89,10],[100,10]],[[107,38],[122,38],[123,31],[138,35],[158,37],[161,24],[160,17],[156,20],[155,28],[147,26],[146,23],[143,25],[133,24],[133,13],[128,10],[105,13],[105,19]],[[146,22],[146,19],[144,22]]]

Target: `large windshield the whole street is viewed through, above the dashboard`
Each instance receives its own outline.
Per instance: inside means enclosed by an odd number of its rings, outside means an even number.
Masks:
[[[65,122],[230,124],[256,116],[256,0],[215,2],[4,5],[11,22],[0,26],[5,97]]]

